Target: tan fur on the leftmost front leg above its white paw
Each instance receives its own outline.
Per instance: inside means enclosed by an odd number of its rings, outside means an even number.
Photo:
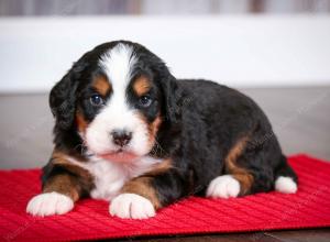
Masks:
[[[69,156],[63,152],[53,152],[52,164],[65,168],[74,174],[74,176],[69,174],[54,175],[45,182],[43,193],[57,191],[77,201],[84,188],[90,189],[94,186],[94,178],[88,170],[72,164],[68,157]]]

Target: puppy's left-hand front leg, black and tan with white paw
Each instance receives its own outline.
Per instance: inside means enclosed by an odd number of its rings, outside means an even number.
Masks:
[[[26,212],[33,216],[66,213],[92,187],[92,179],[87,170],[54,157],[44,168],[43,179],[42,194],[33,197],[26,207]]]

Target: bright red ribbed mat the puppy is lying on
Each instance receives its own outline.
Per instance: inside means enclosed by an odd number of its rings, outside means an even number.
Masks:
[[[0,240],[87,240],[138,235],[242,232],[330,226],[330,163],[296,155],[289,163],[300,184],[296,195],[244,198],[191,197],[136,221],[110,217],[108,204],[86,199],[65,216],[34,218],[28,200],[40,193],[40,170],[0,172]]]

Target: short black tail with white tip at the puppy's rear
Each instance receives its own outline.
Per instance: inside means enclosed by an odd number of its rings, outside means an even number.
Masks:
[[[275,170],[275,190],[283,194],[295,194],[298,190],[298,177],[284,155]]]

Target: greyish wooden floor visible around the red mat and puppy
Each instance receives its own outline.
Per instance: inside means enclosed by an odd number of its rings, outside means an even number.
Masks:
[[[243,89],[266,112],[286,154],[330,161],[330,87]],[[0,95],[0,168],[41,167],[52,152],[47,95]],[[128,238],[125,241],[132,241]],[[330,230],[270,231],[134,241],[330,241]]]

